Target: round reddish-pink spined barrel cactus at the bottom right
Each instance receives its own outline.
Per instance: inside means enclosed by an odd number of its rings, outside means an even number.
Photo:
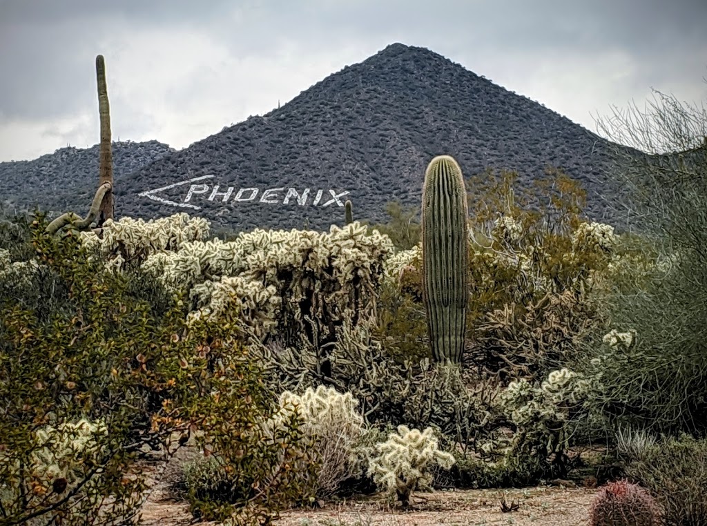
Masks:
[[[655,526],[658,506],[648,491],[626,480],[603,486],[592,501],[592,526]]]

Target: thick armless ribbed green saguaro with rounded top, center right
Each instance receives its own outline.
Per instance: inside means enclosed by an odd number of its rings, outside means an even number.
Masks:
[[[435,361],[460,363],[467,318],[467,194],[450,156],[428,165],[422,191],[423,301]]]

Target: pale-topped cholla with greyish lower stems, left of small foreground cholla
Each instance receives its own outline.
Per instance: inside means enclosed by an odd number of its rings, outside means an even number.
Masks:
[[[295,408],[303,419],[303,431],[315,442],[320,462],[315,491],[320,498],[334,494],[341,482],[358,475],[355,446],[365,429],[358,400],[350,392],[340,393],[320,385],[301,396],[284,392],[280,407]]]

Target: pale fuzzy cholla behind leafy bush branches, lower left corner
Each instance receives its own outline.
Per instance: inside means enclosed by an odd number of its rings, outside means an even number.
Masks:
[[[44,426],[35,431],[35,450],[29,465],[24,469],[46,490],[55,479],[64,478],[72,484],[83,472],[88,457],[95,457],[102,449],[101,440],[107,436],[102,421],[81,419],[65,422],[59,426]],[[12,469],[18,474],[20,463],[4,458],[0,452],[0,463],[16,464]],[[2,484],[0,483],[0,490]]]

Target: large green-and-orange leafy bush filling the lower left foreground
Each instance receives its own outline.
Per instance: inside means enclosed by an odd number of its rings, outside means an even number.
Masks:
[[[11,274],[0,280],[3,523],[129,522],[146,496],[136,460],[148,450],[166,460],[194,434],[276,487],[250,497],[252,516],[276,513],[296,493],[273,476],[296,423],[270,443],[245,432],[276,397],[233,317],[187,325],[179,296],[131,284],[133,272],[107,269],[75,235],[45,226],[31,226],[32,260],[6,249],[0,269]]]

